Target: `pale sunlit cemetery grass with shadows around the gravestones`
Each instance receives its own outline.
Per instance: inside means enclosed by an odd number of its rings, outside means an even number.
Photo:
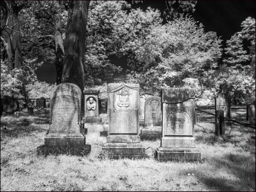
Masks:
[[[232,110],[232,119],[245,117],[245,110]],[[88,126],[89,155],[43,157],[36,147],[44,143],[49,114],[2,116],[1,191],[255,191],[255,130],[234,124],[216,137],[211,121],[214,116],[198,113],[194,137],[201,161],[158,162],[160,139],[141,142],[145,159],[98,158],[106,143],[102,125]]]

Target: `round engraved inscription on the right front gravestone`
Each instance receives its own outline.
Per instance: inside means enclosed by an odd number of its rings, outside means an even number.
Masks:
[[[190,124],[189,114],[181,109],[172,111],[167,118],[167,129],[174,134],[186,133]]]

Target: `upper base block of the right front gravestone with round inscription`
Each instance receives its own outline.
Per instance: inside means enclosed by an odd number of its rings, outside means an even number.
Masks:
[[[195,148],[194,137],[163,137],[161,138],[161,147],[172,148]]]

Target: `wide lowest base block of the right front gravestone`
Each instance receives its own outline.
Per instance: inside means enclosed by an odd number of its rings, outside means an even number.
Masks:
[[[158,147],[156,159],[158,161],[199,161],[201,153],[196,148]]]

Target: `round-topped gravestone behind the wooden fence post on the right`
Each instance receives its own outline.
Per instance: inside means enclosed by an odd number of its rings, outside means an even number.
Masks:
[[[223,110],[224,117],[231,119],[231,100],[226,93],[219,93],[215,98],[215,111]],[[230,125],[231,122],[225,120],[227,125]]]

